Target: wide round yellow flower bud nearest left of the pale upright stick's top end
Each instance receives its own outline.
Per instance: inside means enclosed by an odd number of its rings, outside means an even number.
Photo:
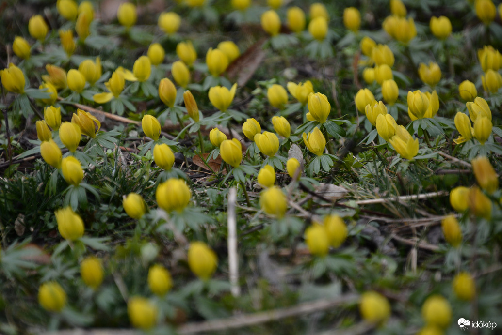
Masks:
[[[155,197],[166,212],[181,212],[190,203],[191,191],[183,179],[170,178],[157,186]]]

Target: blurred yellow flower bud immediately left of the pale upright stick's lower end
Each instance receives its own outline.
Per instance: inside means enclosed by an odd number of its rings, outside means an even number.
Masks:
[[[218,257],[205,243],[195,241],[188,247],[188,266],[197,277],[207,280],[218,266]]]

